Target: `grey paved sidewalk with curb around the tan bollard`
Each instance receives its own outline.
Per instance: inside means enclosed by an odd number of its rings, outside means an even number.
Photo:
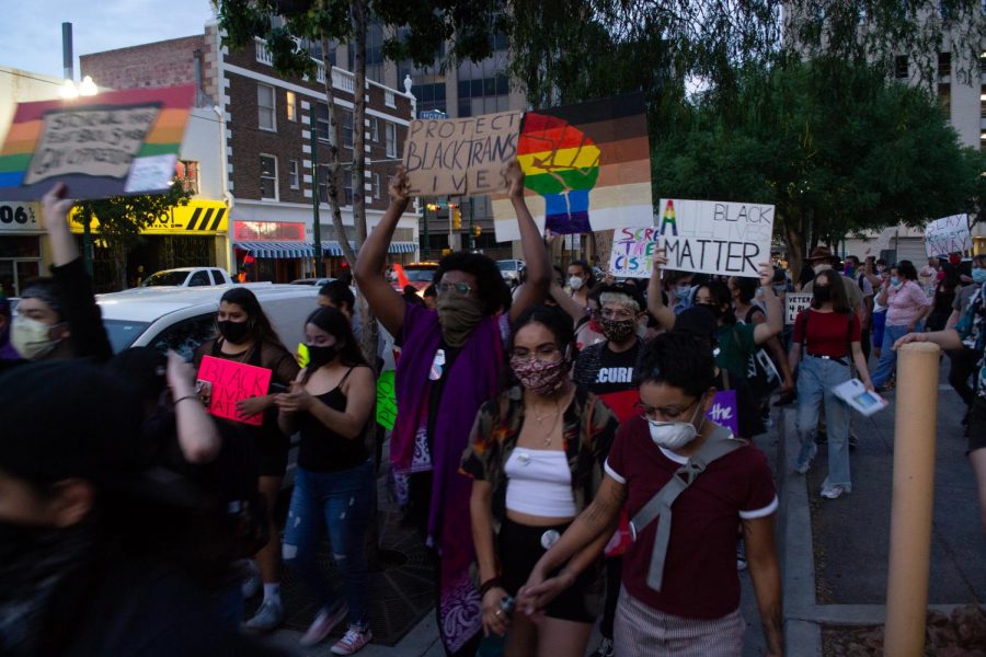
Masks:
[[[965,458],[961,419],[965,405],[939,372],[935,511],[929,604],[947,610],[986,601],[986,560],[975,480]],[[818,492],[827,452],[806,475],[793,472],[798,456],[794,407],[779,422],[783,489],[784,618],[791,655],[821,655],[823,625],[881,625],[885,621],[895,395],[870,418],[853,414],[859,448],[850,457],[852,494],[836,500]]]

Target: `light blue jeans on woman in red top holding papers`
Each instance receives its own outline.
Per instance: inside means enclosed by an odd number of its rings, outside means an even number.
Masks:
[[[801,439],[799,462],[812,458],[815,434],[818,429],[818,411],[825,404],[825,422],[828,434],[828,476],[825,486],[840,485],[852,491],[849,477],[849,406],[832,391],[848,381],[849,366],[835,360],[804,355],[798,366],[798,437]]]

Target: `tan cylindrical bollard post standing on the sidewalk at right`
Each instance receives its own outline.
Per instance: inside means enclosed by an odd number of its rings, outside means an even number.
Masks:
[[[910,343],[897,353],[894,491],[884,642],[887,657],[920,657],[924,654],[940,351],[936,344]]]

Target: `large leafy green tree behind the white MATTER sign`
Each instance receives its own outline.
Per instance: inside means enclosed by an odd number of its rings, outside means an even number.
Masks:
[[[730,113],[701,95],[655,146],[655,195],[776,205],[794,266],[819,242],[976,214],[983,155],[924,89],[834,60],[750,66],[737,81]]]

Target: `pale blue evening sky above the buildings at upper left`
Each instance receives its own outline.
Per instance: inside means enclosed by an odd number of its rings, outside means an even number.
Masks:
[[[209,0],[4,0],[0,66],[61,77],[61,23],[79,56],[202,34]]]

